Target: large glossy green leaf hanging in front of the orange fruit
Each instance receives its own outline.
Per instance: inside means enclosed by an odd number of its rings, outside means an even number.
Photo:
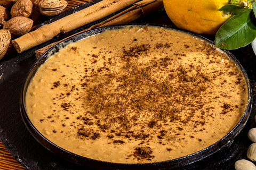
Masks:
[[[252,9],[232,16],[218,30],[215,36],[215,46],[232,50],[244,47],[256,38],[256,27],[252,20]]]

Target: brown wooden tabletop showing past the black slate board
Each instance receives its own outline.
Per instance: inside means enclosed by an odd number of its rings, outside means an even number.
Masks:
[[[35,0],[31,0],[33,3]],[[67,7],[65,8],[66,11],[71,7],[77,6],[79,4],[83,4],[86,2],[92,2],[93,0],[70,0],[68,2]],[[36,27],[36,25],[49,20],[49,17],[43,16],[39,14],[34,8],[33,8],[33,13],[29,17],[31,20],[34,21],[32,30]],[[9,50],[13,48],[12,45],[9,46]],[[0,141],[0,169],[1,170],[20,170],[20,169],[27,169],[23,165],[17,162],[17,160],[12,157],[12,155],[9,153],[9,151],[4,147],[3,143]]]

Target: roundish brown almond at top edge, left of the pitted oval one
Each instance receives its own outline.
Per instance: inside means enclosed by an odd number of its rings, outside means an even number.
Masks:
[[[32,13],[33,3],[30,0],[18,0],[12,6],[11,15],[12,18],[15,16],[25,16],[29,18]]]

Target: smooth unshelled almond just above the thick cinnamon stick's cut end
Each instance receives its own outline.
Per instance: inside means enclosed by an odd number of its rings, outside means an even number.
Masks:
[[[12,38],[23,36],[28,33],[33,26],[33,20],[25,16],[16,16],[5,22],[3,29],[9,30]]]

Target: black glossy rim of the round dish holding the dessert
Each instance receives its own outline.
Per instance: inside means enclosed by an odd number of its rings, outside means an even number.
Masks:
[[[184,156],[184,157],[180,157],[177,159],[171,159],[171,160],[165,160],[163,162],[156,162],[156,163],[147,163],[147,164],[124,164],[124,163],[111,163],[111,162],[104,162],[101,160],[95,160],[95,159],[91,159],[91,158],[86,158],[83,156],[79,156],[76,155],[72,152],[69,152],[65,149],[60,148],[59,146],[55,145],[54,143],[52,143],[51,141],[47,140],[41,133],[39,133],[37,131],[37,129],[34,127],[34,125],[30,122],[28,115],[26,113],[26,107],[25,107],[25,96],[26,96],[26,90],[28,87],[28,84],[31,80],[31,78],[33,78],[37,68],[43,64],[44,62],[46,62],[47,57],[49,56],[49,54],[54,54],[57,53],[61,47],[65,47],[67,46],[70,42],[76,42],[78,40],[82,40],[86,37],[101,33],[102,31],[106,30],[106,29],[120,29],[126,26],[130,26],[130,27],[134,27],[134,26],[140,26],[140,27],[161,27],[161,28],[165,28],[165,29],[173,29],[173,30],[178,30],[178,31],[182,31],[185,33],[188,33],[189,35],[194,36],[195,38],[199,38],[199,39],[203,39],[205,40],[207,43],[211,44],[214,46],[214,43],[207,39],[204,38],[200,35],[197,35],[194,32],[190,32],[187,30],[182,30],[179,28],[170,28],[170,27],[166,27],[164,25],[157,25],[157,24],[119,24],[119,25],[110,25],[107,27],[102,27],[102,28],[97,28],[97,29],[93,29],[93,30],[89,30],[83,33],[80,33],[76,36],[70,37],[66,40],[64,40],[62,43],[59,43],[55,46],[53,46],[51,49],[49,49],[44,55],[42,55],[35,63],[34,65],[31,67],[31,69],[29,70],[29,72],[26,75],[25,81],[23,82],[23,86],[22,86],[22,90],[21,90],[21,96],[20,96],[20,111],[21,111],[21,116],[22,116],[22,120],[25,123],[27,129],[29,130],[29,132],[33,135],[33,137],[39,142],[41,143],[41,145],[43,147],[45,147],[47,150],[50,150],[51,152],[53,152],[54,154],[57,154],[58,156],[65,158],[73,163],[77,163],[83,166],[87,166],[87,167],[92,167],[92,168],[97,168],[97,169],[136,169],[136,168],[157,168],[157,169],[167,169],[167,168],[175,168],[175,167],[182,167],[194,162],[197,162],[198,160],[201,160],[203,158],[206,158],[212,154],[214,154],[215,152],[218,152],[219,150],[221,150],[223,147],[229,145],[229,143],[231,143],[232,140],[234,140],[234,138],[237,136],[237,134],[239,134],[242,129],[244,128],[250,113],[251,113],[251,109],[252,109],[252,89],[250,86],[250,82],[249,82],[249,78],[247,77],[247,74],[243,68],[243,66],[239,63],[239,61],[237,61],[237,59],[230,54],[229,52],[227,52],[226,50],[222,50],[222,52],[226,53],[227,56],[238,66],[238,68],[242,71],[244,78],[246,81],[246,85],[247,85],[247,89],[249,92],[249,99],[246,105],[246,110],[241,118],[241,120],[237,123],[237,125],[235,126],[235,128],[233,128],[228,134],[225,135],[225,137],[221,138],[219,141],[215,142],[213,145],[204,148],[198,152],[195,152],[193,154]]]

